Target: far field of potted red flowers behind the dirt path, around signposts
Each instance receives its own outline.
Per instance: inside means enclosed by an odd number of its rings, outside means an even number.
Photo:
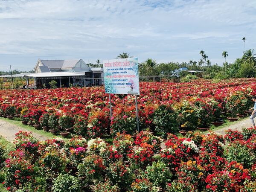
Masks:
[[[219,122],[224,108],[230,110],[231,117],[242,114],[252,107],[251,97],[256,95],[254,79],[218,84],[141,83],[140,86],[140,128],[149,128],[163,137],[181,129],[188,131]],[[77,134],[90,138],[120,131],[134,134],[134,96],[111,95],[111,99],[112,119],[103,87],[1,90],[0,116],[16,114],[25,122],[41,124],[53,131],[58,126],[63,132],[74,127]]]

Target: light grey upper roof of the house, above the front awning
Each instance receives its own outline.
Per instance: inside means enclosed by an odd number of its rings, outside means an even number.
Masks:
[[[44,66],[49,68],[72,68],[79,60],[40,60]]]

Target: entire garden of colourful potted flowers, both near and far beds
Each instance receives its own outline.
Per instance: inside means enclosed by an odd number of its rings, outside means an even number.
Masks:
[[[251,113],[255,90],[254,79],[143,82],[140,133],[134,96],[111,95],[110,118],[104,87],[0,90],[0,116],[69,134],[38,141],[18,132],[7,155],[0,146],[0,178],[17,192],[253,192],[256,128],[195,130]]]

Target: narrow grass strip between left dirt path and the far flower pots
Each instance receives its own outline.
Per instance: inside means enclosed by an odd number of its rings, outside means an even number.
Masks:
[[[29,125],[23,125],[20,118],[16,118],[15,117],[12,120],[10,120],[10,119],[7,119],[7,118],[0,117],[0,119],[4,120],[6,122],[9,122],[12,125],[16,125],[16,126],[18,126],[20,128],[26,129],[27,131],[32,131],[34,133],[37,133],[37,134],[39,134],[39,135],[41,135],[43,137],[48,137],[48,138],[51,138],[51,137],[61,137],[61,139],[63,139],[63,140],[68,140],[67,138],[62,137],[61,135],[53,135],[53,134],[51,134],[49,132],[46,132],[44,130],[37,130],[34,127],[30,127]]]

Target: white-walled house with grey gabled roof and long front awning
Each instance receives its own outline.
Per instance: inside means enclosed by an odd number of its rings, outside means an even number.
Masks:
[[[104,84],[103,69],[89,67],[82,59],[79,60],[43,60],[38,59],[35,65],[35,85],[41,87],[49,81],[57,81],[57,86],[100,86]]]

